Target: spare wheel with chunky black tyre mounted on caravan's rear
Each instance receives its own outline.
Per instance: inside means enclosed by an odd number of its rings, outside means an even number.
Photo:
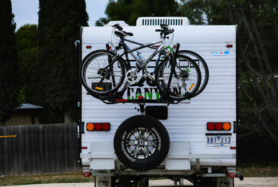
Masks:
[[[170,147],[166,128],[154,117],[135,115],[124,120],[114,137],[117,158],[133,170],[150,170],[162,163]]]

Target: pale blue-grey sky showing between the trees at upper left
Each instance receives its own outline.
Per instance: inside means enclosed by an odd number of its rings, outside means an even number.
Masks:
[[[95,26],[99,17],[104,14],[108,0],[85,0],[86,11],[89,15],[89,26]],[[24,24],[38,24],[39,0],[12,0],[13,14],[17,29]]]

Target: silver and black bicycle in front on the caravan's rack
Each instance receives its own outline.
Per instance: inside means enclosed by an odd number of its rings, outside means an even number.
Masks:
[[[181,101],[193,97],[193,94],[197,92],[200,86],[201,73],[194,60],[179,54],[179,44],[177,44],[177,49],[174,53],[167,49],[165,38],[170,33],[173,33],[174,29],[169,29],[167,25],[162,24],[161,29],[156,29],[156,32],[160,32],[161,40],[149,44],[140,44],[126,39],[126,36],[132,36],[133,33],[123,31],[119,24],[115,24],[113,28],[117,29],[114,33],[120,38],[120,42],[115,49],[117,51],[124,49],[124,53],[115,54],[104,49],[92,51],[85,56],[81,64],[81,82],[90,95],[98,99],[121,98],[126,88],[138,83],[138,73],[142,70],[142,73],[146,76],[145,79],[155,81],[161,94],[161,99]],[[125,41],[139,44],[140,47],[130,49]],[[161,44],[159,47],[152,47],[154,44],[159,43]],[[155,51],[147,60],[141,61],[133,52],[145,47],[155,49]],[[131,54],[136,60],[135,69],[131,68],[128,54]],[[154,72],[149,73],[147,65],[156,54],[158,54],[158,58],[156,59]],[[162,55],[164,60],[161,60]],[[126,57],[126,60],[122,58],[123,56]],[[168,71],[165,72],[165,70]],[[117,92],[124,79],[126,79],[125,85],[122,90]]]

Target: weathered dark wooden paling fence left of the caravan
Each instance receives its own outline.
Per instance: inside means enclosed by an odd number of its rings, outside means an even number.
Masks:
[[[0,175],[81,170],[77,143],[77,124],[0,127]]]

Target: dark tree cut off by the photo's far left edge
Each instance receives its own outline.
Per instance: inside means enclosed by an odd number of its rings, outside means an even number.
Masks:
[[[0,124],[19,105],[19,67],[15,48],[15,23],[10,0],[0,6]]]

